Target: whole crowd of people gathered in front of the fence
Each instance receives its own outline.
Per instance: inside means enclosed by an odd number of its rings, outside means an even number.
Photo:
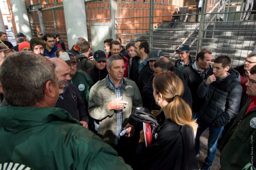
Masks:
[[[186,44],[173,63],[144,39],[92,53],[84,38],[66,51],[60,35],[18,35],[12,47],[0,32],[1,166],[195,170],[209,128],[202,170],[217,144],[221,169],[255,169],[256,53],[231,68]]]

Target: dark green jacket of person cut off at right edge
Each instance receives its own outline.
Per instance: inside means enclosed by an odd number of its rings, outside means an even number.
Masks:
[[[244,116],[251,103],[240,110],[220,144],[222,170],[256,170],[256,108]]]

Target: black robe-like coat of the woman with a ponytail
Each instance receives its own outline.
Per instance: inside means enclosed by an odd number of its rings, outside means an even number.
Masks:
[[[157,130],[158,137],[149,147],[139,143],[132,168],[135,170],[194,170],[196,161],[194,133],[171,119]]]

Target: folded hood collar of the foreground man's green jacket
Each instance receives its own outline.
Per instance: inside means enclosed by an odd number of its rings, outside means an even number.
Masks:
[[[78,123],[78,120],[60,108],[4,106],[0,107],[0,113],[0,125],[9,127],[13,132],[58,120]]]

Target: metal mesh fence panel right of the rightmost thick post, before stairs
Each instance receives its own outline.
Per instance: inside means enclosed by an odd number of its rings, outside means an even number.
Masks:
[[[233,66],[243,64],[256,42],[255,11],[250,3],[253,0],[208,0],[200,49],[211,51],[213,57],[233,58]]]

